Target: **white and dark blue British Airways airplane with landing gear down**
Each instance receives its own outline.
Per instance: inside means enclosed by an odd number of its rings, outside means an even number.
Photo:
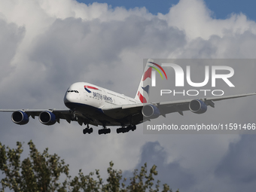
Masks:
[[[64,96],[64,104],[68,109],[0,109],[0,111],[12,112],[11,120],[24,125],[29,123],[29,117],[38,119],[44,125],[59,123],[60,119],[67,122],[77,121],[84,128],[83,133],[93,133],[93,126],[102,126],[98,130],[99,135],[111,133],[107,126],[120,126],[117,133],[127,133],[136,130],[136,125],[146,120],[151,120],[162,115],[183,111],[192,111],[203,114],[207,106],[215,107],[215,101],[233,99],[243,96],[252,96],[256,93],[246,93],[233,96],[215,96],[202,99],[185,99],[169,102],[148,102],[149,88],[151,87],[151,72],[159,66],[153,59],[148,59],[142,79],[135,98],[124,96],[120,93],[104,89],[87,82],[72,84]]]

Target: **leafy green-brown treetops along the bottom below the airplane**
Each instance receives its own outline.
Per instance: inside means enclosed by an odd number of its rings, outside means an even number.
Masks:
[[[108,178],[104,182],[96,169],[89,175],[84,175],[80,169],[78,176],[72,178],[69,175],[69,164],[60,160],[57,154],[48,154],[48,148],[40,153],[32,141],[29,145],[29,157],[20,160],[23,153],[23,145],[17,142],[17,148],[5,147],[0,142],[0,169],[5,178],[2,178],[0,188],[4,192],[6,188],[20,191],[113,191],[113,192],[132,192],[132,191],[160,191],[160,181],[154,184],[154,175],[157,175],[157,166],[152,166],[148,172],[147,163],[141,170],[135,169],[130,184],[123,178],[122,171],[113,169],[114,163],[110,162],[108,167]],[[60,176],[62,175],[62,181]],[[122,180],[123,178],[123,180]],[[64,181],[63,181],[64,180]],[[162,191],[172,191],[168,184],[163,184]],[[177,190],[178,191],[178,190]]]

